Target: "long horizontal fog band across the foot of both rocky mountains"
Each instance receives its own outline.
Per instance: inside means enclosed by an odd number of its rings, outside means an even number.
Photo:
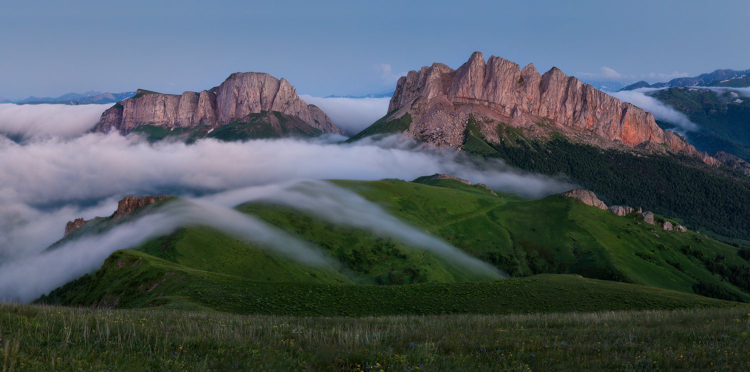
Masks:
[[[501,162],[476,168],[451,149],[422,149],[398,136],[336,144],[302,139],[148,143],[139,136],[87,133],[20,145],[0,140],[0,198],[50,205],[148,193],[217,192],[321,178],[411,180],[436,172],[524,196],[570,184],[518,172]]]

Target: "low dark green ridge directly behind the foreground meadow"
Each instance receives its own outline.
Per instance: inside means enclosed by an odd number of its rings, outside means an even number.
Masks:
[[[736,303],[653,287],[538,275],[501,281],[400,286],[259,283],[189,269],[138,251],[117,251],[94,275],[45,302],[120,308],[163,306],[241,314],[384,316],[513,314],[725,307]],[[85,290],[81,290],[85,289]]]

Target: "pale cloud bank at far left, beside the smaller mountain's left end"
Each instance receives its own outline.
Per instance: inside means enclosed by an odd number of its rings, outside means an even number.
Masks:
[[[71,138],[94,127],[112,104],[0,104],[0,134],[21,141],[58,136]]]

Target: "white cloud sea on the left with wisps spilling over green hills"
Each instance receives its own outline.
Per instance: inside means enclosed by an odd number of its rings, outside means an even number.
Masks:
[[[352,226],[351,221],[358,220],[365,223],[354,225],[358,228],[410,245],[428,245],[438,250],[436,254],[466,267],[488,269],[419,229],[396,228],[406,225],[357,199],[356,194],[329,185],[329,193],[305,201],[299,190],[291,192],[284,187],[332,178],[411,180],[438,172],[531,197],[574,187],[558,178],[520,172],[500,161],[475,163],[455,151],[425,148],[400,136],[353,144],[342,144],[338,141],[343,137],[336,136],[246,142],[202,139],[190,145],[149,143],[116,132],[90,133],[106,107],[50,106],[0,110],[0,115],[13,113],[12,119],[0,118],[0,123],[5,123],[0,127],[0,133],[5,134],[0,135],[0,299],[30,301],[97,269],[111,252],[169,233],[177,226],[214,226],[269,249],[295,248],[286,253],[306,263],[327,264],[316,247],[252,216],[239,218],[231,209],[261,196],[296,205],[334,223]],[[275,191],[254,196],[258,190]],[[107,216],[123,196],[154,194],[182,196],[190,204],[118,226],[104,236],[78,239],[43,252],[62,238],[68,220]],[[321,204],[324,200],[328,203]],[[348,217],[336,220],[337,215]]]

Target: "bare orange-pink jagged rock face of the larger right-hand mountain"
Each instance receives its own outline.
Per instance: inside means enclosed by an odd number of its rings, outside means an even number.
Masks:
[[[670,131],[661,130],[651,113],[568,77],[558,68],[539,74],[534,65],[520,68],[492,56],[484,62],[474,52],[458,70],[436,63],[410,71],[398,80],[389,104],[392,118],[410,113],[407,134],[437,145],[458,146],[469,114],[479,114],[515,127],[552,124],[630,146],[661,144],[667,151],[700,156],[715,163]],[[495,130],[495,133],[492,131]],[[482,127],[487,140],[496,129]]]

